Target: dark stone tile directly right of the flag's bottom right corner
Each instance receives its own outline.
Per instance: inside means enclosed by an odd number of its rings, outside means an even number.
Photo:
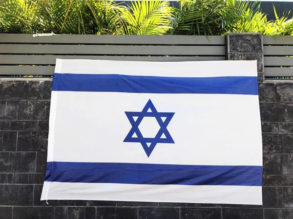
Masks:
[[[264,207],[282,207],[282,188],[281,187],[263,187],[263,206]]]

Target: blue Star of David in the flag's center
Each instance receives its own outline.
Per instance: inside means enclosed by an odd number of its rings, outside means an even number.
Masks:
[[[150,111],[149,111],[150,110]],[[126,138],[123,142],[139,142],[143,146],[147,157],[150,156],[151,152],[155,148],[155,146],[158,143],[173,143],[174,141],[170,135],[170,133],[167,130],[167,125],[171,121],[173,115],[175,112],[158,112],[149,99],[146,103],[146,106],[141,112],[125,112],[126,116],[132,125],[132,128],[130,129],[129,133],[127,134]],[[138,117],[136,120],[134,120],[133,117]],[[160,129],[156,136],[154,138],[144,138],[141,131],[139,130],[138,126],[142,122],[144,117],[155,117],[158,124],[160,125]],[[163,121],[163,118],[166,118],[165,121]],[[133,137],[134,133],[137,137]],[[165,136],[163,135],[165,134]],[[162,135],[164,136],[162,138]],[[146,143],[150,143],[150,146],[147,146]]]

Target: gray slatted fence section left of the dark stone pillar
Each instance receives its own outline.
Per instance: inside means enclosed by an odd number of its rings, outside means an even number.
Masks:
[[[225,60],[225,37],[0,34],[1,75],[53,75],[56,58]]]

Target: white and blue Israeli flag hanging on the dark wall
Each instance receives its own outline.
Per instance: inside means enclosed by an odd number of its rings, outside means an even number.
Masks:
[[[57,59],[41,200],[262,204],[256,61]]]

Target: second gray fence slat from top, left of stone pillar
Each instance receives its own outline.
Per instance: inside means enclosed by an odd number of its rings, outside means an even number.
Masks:
[[[13,45],[0,44],[0,54],[54,55],[225,55],[224,46]]]

